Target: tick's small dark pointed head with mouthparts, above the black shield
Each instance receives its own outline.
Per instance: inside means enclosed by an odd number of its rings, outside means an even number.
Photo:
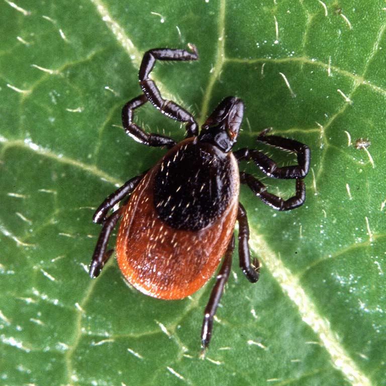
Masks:
[[[239,134],[243,113],[243,101],[228,96],[202,126],[199,140],[216,145],[224,152],[231,151]]]

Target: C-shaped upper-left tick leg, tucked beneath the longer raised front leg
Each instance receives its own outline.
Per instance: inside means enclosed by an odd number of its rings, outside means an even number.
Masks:
[[[129,101],[122,109],[122,124],[125,128],[126,134],[132,137],[135,141],[143,143],[148,146],[166,146],[173,147],[176,142],[170,137],[161,134],[145,133],[143,129],[133,123],[133,111],[147,102],[146,95],[142,94],[137,98]]]

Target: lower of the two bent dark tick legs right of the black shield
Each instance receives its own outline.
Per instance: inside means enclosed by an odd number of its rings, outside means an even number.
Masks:
[[[263,203],[278,211],[289,211],[298,208],[306,200],[306,187],[303,180],[299,178],[296,179],[295,196],[290,197],[288,200],[283,200],[281,197],[269,193],[267,187],[251,174],[240,172],[240,182],[246,183]]]

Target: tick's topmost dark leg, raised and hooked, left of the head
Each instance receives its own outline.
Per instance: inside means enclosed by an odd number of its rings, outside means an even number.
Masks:
[[[169,48],[154,48],[145,52],[138,76],[139,84],[146,95],[147,100],[167,117],[179,122],[186,122],[187,137],[192,137],[198,135],[198,125],[195,119],[175,102],[163,99],[158,87],[149,77],[156,60],[197,60],[199,55],[196,46],[188,44],[188,48],[190,51]]]

